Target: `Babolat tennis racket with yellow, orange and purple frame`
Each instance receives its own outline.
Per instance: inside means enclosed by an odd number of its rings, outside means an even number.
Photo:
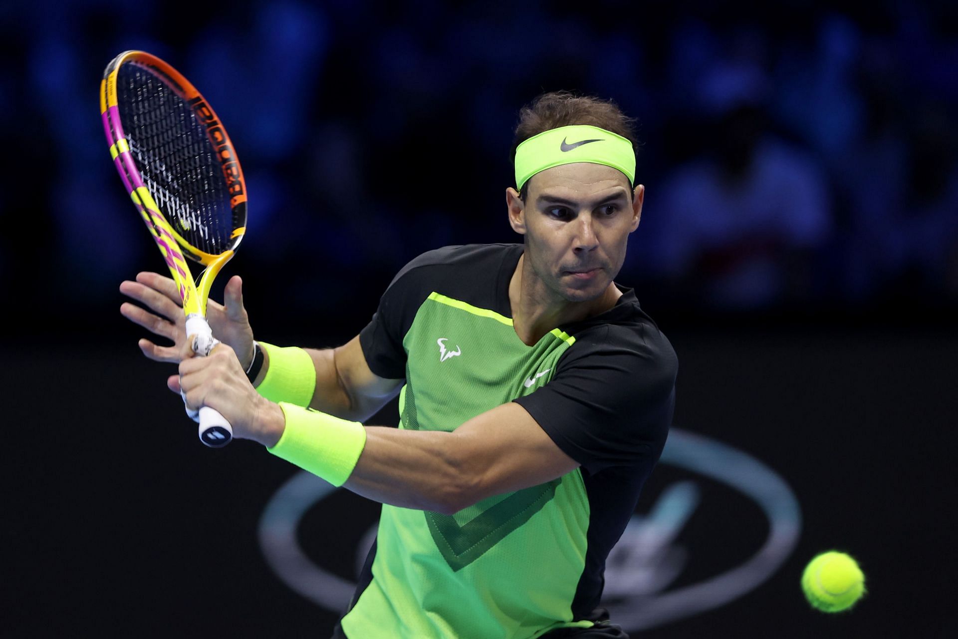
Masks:
[[[246,186],[233,144],[194,85],[142,51],[106,66],[100,112],[113,164],[179,288],[186,334],[195,335],[196,354],[208,355],[218,343],[206,321],[210,286],[246,230]],[[196,283],[187,259],[204,266]],[[203,444],[233,439],[213,408],[187,412]]]

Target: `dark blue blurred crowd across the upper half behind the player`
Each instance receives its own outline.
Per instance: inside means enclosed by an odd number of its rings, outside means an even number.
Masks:
[[[0,190],[0,277],[34,295],[13,271],[33,262],[95,304],[157,266],[99,125],[103,67],[135,48],[179,68],[227,125],[250,197],[235,268],[270,272],[292,307],[342,308],[357,281],[388,282],[443,244],[518,240],[503,194],[513,126],[556,89],[638,120],[647,198],[619,281],[640,300],[958,306],[955,4],[712,5],[277,0],[186,20],[157,0],[5,4],[17,170]]]

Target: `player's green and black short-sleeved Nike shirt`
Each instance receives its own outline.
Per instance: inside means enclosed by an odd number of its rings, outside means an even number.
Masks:
[[[451,431],[515,401],[581,467],[451,515],[383,505],[337,637],[531,639],[593,625],[605,558],[665,445],[677,361],[631,289],[524,344],[509,302],[522,251],[423,254],[360,344],[377,376],[405,379],[400,428]]]

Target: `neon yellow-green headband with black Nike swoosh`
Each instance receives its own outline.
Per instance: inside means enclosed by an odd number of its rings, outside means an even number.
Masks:
[[[635,180],[635,151],[626,138],[598,126],[559,126],[529,138],[515,149],[516,189],[539,171],[575,162],[604,164]]]

